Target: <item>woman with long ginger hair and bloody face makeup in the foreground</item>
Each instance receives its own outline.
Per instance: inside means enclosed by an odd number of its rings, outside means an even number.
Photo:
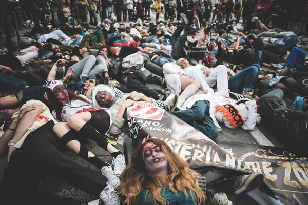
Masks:
[[[199,174],[160,139],[137,147],[121,175],[123,204],[205,204]]]

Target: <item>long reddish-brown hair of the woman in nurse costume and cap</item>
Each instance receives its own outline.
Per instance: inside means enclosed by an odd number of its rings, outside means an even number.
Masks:
[[[65,85],[63,85],[65,87],[65,89],[67,90],[67,93],[68,93],[68,98],[70,101],[72,100],[76,100],[76,99],[79,99],[81,101],[84,101],[85,103],[88,103],[90,104],[86,99],[80,97],[80,96],[77,96],[75,93],[73,93],[72,91],[70,91]],[[51,89],[48,89],[46,91],[46,94],[47,94],[47,98],[48,98],[48,101],[49,101],[49,105],[50,105],[50,108],[52,110],[55,111],[55,116],[56,116],[56,119],[58,121],[63,121],[62,120],[62,117],[61,117],[61,113],[62,113],[62,108],[63,108],[63,104],[59,102],[59,100],[57,100],[53,94],[53,92],[51,91]]]

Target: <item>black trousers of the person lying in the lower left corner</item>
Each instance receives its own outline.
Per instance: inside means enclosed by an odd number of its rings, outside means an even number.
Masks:
[[[107,178],[63,154],[64,147],[53,133],[53,126],[53,121],[47,122],[13,152],[0,182],[0,204],[45,204],[36,200],[38,185],[46,174],[95,196],[103,191]]]

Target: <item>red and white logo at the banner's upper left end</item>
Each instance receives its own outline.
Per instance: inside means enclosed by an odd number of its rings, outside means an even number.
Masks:
[[[165,110],[162,108],[158,108],[153,104],[138,102],[133,104],[131,107],[127,109],[129,120],[131,117],[138,117],[142,119],[154,119],[161,120]]]

